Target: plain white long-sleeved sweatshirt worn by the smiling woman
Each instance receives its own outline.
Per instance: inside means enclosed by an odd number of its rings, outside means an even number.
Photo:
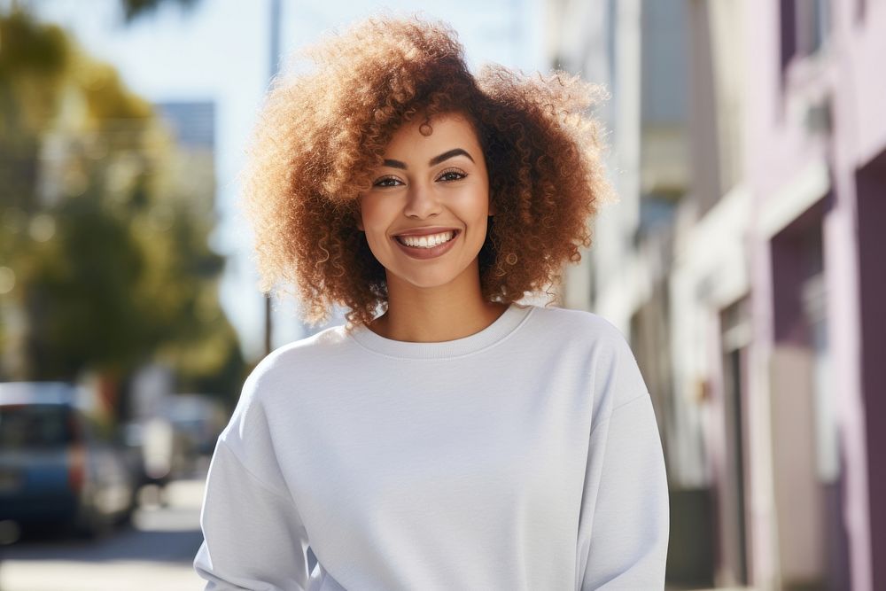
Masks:
[[[662,589],[669,527],[625,338],[517,304],[453,341],[336,327],[269,354],[200,522],[206,589],[310,591]]]

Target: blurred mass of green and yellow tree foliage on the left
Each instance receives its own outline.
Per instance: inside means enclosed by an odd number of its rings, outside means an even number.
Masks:
[[[0,268],[15,275],[0,315],[27,320],[24,363],[0,378],[125,376],[160,360],[211,385],[242,370],[207,244],[212,183],[184,186],[183,159],[111,66],[58,27],[0,14]]]

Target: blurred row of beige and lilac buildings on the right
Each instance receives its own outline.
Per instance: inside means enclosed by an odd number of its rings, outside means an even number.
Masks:
[[[674,587],[886,587],[886,4],[548,2],[620,202],[562,288],[657,408]]]

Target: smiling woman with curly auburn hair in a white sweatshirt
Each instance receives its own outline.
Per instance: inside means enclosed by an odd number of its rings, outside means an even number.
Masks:
[[[475,78],[419,20],[313,57],[269,95],[245,205],[263,288],[348,325],[247,378],[206,484],[206,588],[664,587],[664,458],[625,339],[517,303],[590,244],[592,89]]]

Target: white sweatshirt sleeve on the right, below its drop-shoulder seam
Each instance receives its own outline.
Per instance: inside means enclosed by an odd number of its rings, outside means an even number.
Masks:
[[[668,544],[664,455],[649,393],[595,425],[579,526],[581,591],[663,589]]]

